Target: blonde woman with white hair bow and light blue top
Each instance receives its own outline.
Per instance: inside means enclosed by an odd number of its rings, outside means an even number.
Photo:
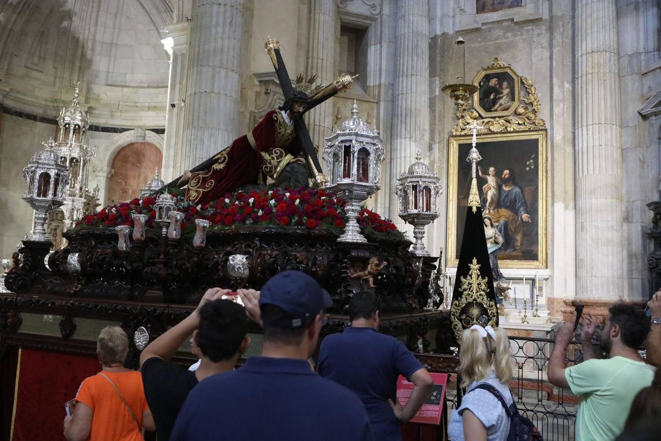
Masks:
[[[493,393],[477,387],[486,383],[511,405],[514,397],[510,341],[504,329],[473,325],[461,335],[461,387],[467,392],[459,409],[452,411],[448,433],[452,441],[504,441],[510,432],[510,417]],[[477,388],[476,388],[477,387]]]

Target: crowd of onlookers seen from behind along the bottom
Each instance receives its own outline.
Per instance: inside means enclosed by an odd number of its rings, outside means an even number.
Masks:
[[[331,296],[313,278],[280,272],[260,292],[239,290],[243,306],[208,290],[186,319],[151,342],[140,372],[124,368],[128,337],[116,326],[97,341],[101,371],[81,383],[64,436],[74,440],[401,440],[401,423],[416,415],[432,377],[398,339],[378,332],[379,301],[354,294],[351,325],[318,344]],[[592,315],[580,323],[584,361],[566,367],[573,321],[557,328],[547,378],[580,398],[576,440],[652,440],[661,429],[661,290],[637,307],[610,307],[592,344]],[[251,340],[248,318],[263,329],[261,356],[237,362]],[[651,324],[650,324],[651,321]],[[192,337],[190,337],[192,335]],[[186,339],[200,361],[190,369],[171,361]],[[638,352],[646,341],[646,359]],[[311,356],[319,346],[315,368]],[[459,381],[465,395],[451,412],[453,441],[504,441],[519,426],[510,391],[514,360],[504,329],[474,325],[463,331]],[[397,378],[414,385],[397,402]],[[533,434],[537,432],[533,429]],[[509,438],[513,439],[513,438]],[[520,439],[520,438],[517,438]],[[530,438],[535,439],[535,438]]]

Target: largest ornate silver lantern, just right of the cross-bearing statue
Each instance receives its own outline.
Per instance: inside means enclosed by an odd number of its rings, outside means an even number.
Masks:
[[[326,138],[323,159],[331,179],[327,188],[346,200],[347,223],[338,242],[367,242],[360,233],[358,214],[360,202],[379,190],[379,168],[383,162],[383,140],[379,131],[358,118],[358,104],[354,100],[351,118],[340,128],[334,127]]]

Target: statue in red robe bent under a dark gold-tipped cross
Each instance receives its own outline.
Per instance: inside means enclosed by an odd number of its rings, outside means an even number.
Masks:
[[[305,161],[315,184],[326,182],[303,114],[337,93],[350,89],[353,77],[344,74],[330,85],[313,87],[316,76],[304,82],[303,76],[299,75],[297,83],[292,86],[280,56],[278,40],[269,38],[264,49],[276,70],[284,104],[277,110],[267,112],[251,132],[237,138],[229,147],[187,171],[159,192],[168,186],[188,184],[186,200],[206,204],[239,186],[266,181],[266,177],[278,179],[285,167],[296,161]],[[298,158],[301,153],[304,159]]]

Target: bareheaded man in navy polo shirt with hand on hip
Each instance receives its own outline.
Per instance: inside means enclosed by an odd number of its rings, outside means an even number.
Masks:
[[[401,341],[377,331],[378,309],[373,292],[354,294],[349,302],[351,327],[323,339],[317,371],[358,395],[375,439],[401,441],[401,422],[418,413],[433,381]],[[404,407],[396,403],[400,374],[414,384]]]

